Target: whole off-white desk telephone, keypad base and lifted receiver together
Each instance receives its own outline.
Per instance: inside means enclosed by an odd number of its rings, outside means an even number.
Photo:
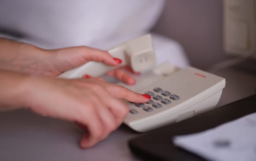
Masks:
[[[122,59],[121,66],[129,65],[136,72],[152,69],[156,63],[149,34],[124,42],[109,52],[113,57]],[[84,74],[100,76],[118,67],[89,62],[59,77],[81,78]],[[177,68],[169,63],[155,67],[135,79],[136,84],[133,86],[118,84],[152,96],[145,104],[126,102],[130,113],[123,122],[137,132],[147,132],[213,109],[226,84],[225,79],[217,75],[193,67]]]

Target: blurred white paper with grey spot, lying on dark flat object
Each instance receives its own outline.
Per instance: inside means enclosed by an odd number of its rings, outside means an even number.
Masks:
[[[210,161],[256,161],[256,113],[173,142]]]

